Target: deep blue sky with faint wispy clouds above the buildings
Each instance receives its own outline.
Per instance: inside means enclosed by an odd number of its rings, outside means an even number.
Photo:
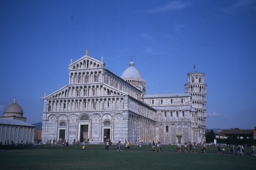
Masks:
[[[2,0],[0,16],[1,116],[16,97],[41,122],[41,97],[88,49],[118,76],[133,57],[147,94],[183,93],[195,65],[207,128],[256,126],[256,1]]]

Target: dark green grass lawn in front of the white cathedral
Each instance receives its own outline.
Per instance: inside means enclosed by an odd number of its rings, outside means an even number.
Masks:
[[[256,162],[256,156],[249,153],[245,156],[217,155],[217,147],[210,147],[206,154],[176,153],[175,146],[169,145],[163,146],[161,153],[151,151],[149,145],[133,145],[130,151],[116,151],[115,146],[113,149],[108,151],[104,145],[86,145],[86,150],[81,150],[81,145],[70,145],[69,150],[61,150],[61,146],[6,150],[0,152],[0,169],[245,170],[254,169]]]

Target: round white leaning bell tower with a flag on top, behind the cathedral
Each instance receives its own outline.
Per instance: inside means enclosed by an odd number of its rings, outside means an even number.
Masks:
[[[191,93],[192,107],[198,111],[198,141],[205,141],[206,121],[206,95],[207,85],[204,83],[204,73],[192,71],[188,74],[188,82],[185,84],[185,93]]]

